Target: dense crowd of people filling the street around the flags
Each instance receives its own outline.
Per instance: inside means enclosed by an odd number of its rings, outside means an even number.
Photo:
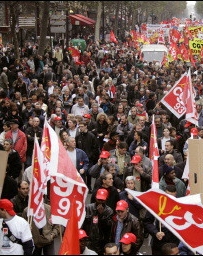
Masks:
[[[8,153],[1,200],[10,200],[3,206],[0,200],[3,218],[12,205],[18,216],[27,218],[34,138],[41,144],[47,119],[91,196],[80,230],[81,254],[139,254],[149,234],[152,255],[186,249],[167,228],[160,231],[154,216],[125,188],[141,192],[151,188],[154,115],[160,189],[176,197],[186,195],[188,180],[182,174],[188,138],[203,138],[201,63],[191,67],[198,127],[184,117],[177,119],[160,103],[188,70],[181,60],[163,66],[155,60],[143,61],[136,49],[125,44],[90,42],[75,62],[60,45],[53,52],[46,48],[43,56],[28,45],[20,59],[14,59],[12,48],[3,52],[0,69],[0,149]],[[39,230],[33,223],[31,232],[33,254],[55,253],[58,225],[48,221]]]

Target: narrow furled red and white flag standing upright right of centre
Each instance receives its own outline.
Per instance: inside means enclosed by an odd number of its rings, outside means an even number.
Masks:
[[[151,134],[149,142],[149,158],[152,161],[152,188],[159,188],[159,149],[157,144],[157,130],[152,116]]]

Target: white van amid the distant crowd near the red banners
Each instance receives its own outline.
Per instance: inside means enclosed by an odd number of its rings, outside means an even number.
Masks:
[[[141,54],[144,61],[158,61],[162,62],[165,54],[168,53],[168,49],[163,44],[144,44],[141,48]]]

